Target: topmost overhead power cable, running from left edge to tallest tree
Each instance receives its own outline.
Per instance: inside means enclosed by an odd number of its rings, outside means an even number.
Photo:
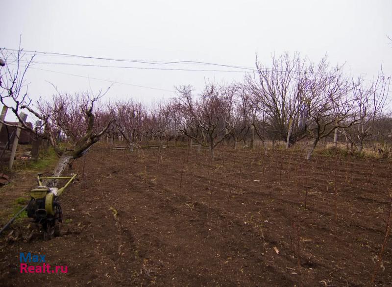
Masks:
[[[3,48],[3,49],[8,50],[8,51],[18,51],[18,49],[10,49],[10,48]],[[213,65],[213,66],[221,66],[221,67],[256,71],[252,68],[243,67],[243,66],[233,66],[233,65],[225,65],[225,64],[217,64],[217,63],[209,63],[209,62],[199,62],[199,61],[149,61],[149,60],[143,61],[143,60],[93,57],[93,56],[75,55],[75,54],[67,54],[67,53],[58,53],[58,52],[43,52],[43,51],[33,51],[33,50],[23,50],[23,51],[29,52],[29,53],[38,53],[38,54],[43,54],[43,55],[59,55],[59,56],[68,56],[68,57],[77,57],[77,58],[95,59],[95,60],[117,61],[117,62],[134,62],[134,63],[150,64],[150,65],[201,64],[201,65]]]

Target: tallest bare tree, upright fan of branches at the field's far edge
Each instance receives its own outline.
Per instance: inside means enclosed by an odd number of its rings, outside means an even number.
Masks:
[[[262,66],[256,59],[257,73],[246,75],[245,83],[253,103],[265,113],[270,132],[290,145],[303,139],[306,125],[301,124],[301,107],[305,101],[306,71],[312,64],[299,54],[285,53],[272,57],[272,66]]]

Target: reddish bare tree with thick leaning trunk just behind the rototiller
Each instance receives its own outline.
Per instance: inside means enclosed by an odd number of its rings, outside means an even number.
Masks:
[[[107,92],[107,91],[106,91]],[[112,120],[107,113],[101,111],[98,100],[106,94],[100,91],[97,95],[89,92],[67,95],[58,93],[51,101],[38,105],[39,113],[26,107],[37,117],[46,120],[46,136],[60,156],[53,174],[60,175],[67,164],[81,157],[109,128]],[[60,145],[58,133],[63,132],[67,145]]]

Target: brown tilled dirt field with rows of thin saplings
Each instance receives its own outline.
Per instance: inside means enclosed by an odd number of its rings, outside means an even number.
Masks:
[[[368,286],[385,237],[390,163],[303,158],[225,148],[211,161],[186,148],[96,146],[61,196],[61,237],[2,240],[0,285]],[[391,241],[377,286],[392,286]],[[20,274],[19,252],[45,254],[68,273]]]

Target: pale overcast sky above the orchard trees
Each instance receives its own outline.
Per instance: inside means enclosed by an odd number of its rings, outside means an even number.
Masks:
[[[254,67],[255,54],[266,65],[272,53],[300,52],[313,61],[327,54],[332,64],[367,79],[381,62],[392,73],[392,0],[287,1],[98,1],[0,0],[2,48],[94,57],[157,61],[199,61]],[[142,68],[232,70],[220,66],[110,62],[37,55],[36,62]],[[174,95],[174,86],[200,89],[205,80],[240,81],[244,72],[202,72],[36,63],[28,74],[29,95],[54,90],[77,92],[107,88],[106,98],[151,102]],[[42,71],[50,70],[49,71]],[[59,73],[60,72],[60,73]],[[77,77],[67,74],[80,75]],[[89,79],[90,78],[90,79]]]

